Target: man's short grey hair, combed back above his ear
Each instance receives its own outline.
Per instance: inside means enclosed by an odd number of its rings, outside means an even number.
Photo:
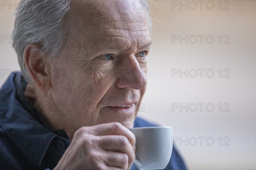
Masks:
[[[143,0],[144,1],[144,0]],[[149,4],[145,0],[145,11],[151,27]],[[67,43],[64,16],[70,9],[70,0],[21,0],[17,11],[12,46],[27,82],[32,82],[28,74],[23,53],[29,43],[41,46],[49,58],[56,58]]]

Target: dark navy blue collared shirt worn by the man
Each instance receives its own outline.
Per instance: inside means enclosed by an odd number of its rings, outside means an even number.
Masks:
[[[53,169],[70,144],[64,130],[52,130],[24,96],[26,81],[12,73],[0,89],[0,169]],[[134,127],[156,126],[137,118]],[[135,165],[131,167],[137,170]],[[166,170],[186,169],[175,147]]]

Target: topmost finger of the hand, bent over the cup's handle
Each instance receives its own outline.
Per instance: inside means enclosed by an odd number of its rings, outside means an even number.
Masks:
[[[122,135],[126,136],[135,150],[135,135],[125,126],[118,122],[105,123],[90,127],[91,133],[96,136]]]

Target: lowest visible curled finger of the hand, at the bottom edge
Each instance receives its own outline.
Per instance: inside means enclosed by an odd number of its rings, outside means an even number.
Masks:
[[[118,167],[127,170],[129,167],[129,158],[125,153],[106,151],[104,163],[111,167]]]

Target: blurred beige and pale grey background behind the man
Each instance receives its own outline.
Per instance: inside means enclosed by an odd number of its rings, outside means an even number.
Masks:
[[[151,1],[154,42],[148,61],[144,108],[139,115],[159,125],[173,126],[174,139],[179,140],[175,144],[189,169],[256,169],[256,1],[221,1],[221,9],[219,0],[204,1],[201,9],[200,3],[194,1],[197,3],[194,10],[195,3],[182,1],[186,2],[188,9],[185,6],[180,9],[180,1]],[[178,6],[172,6],[177,3]],[[225,6],[229,9],[224,10]],[[13,29],[15,7],[12,10],[9,7],[0,10],[1,35],[10,35]],[[185,40],[172,43],[176,35],[195,36],[187,44]],[[204,35],[202,43],[198,35]],[[207,35],[214,37],[211,44],[206,41]],[[198,38],[195,44],[191,43],[193,37]],[[224,44],[227,37],[230,43]],[[2,85],[8,77],[3,75],[5,69],[19,69],[8,41],[0,44],[0,66]],[[188,69],[190,76],[172,77],[172,69]],[[195,72],[191,69],[205,69],[202,78],[199,71],[192,78]],[[207,77],[211,72],[206,75],[208,69],[214,72],[212,78]],[[226,75],[229,78],[224,78],[227,73],[224,69],[230,71]],[[192,112],[195,106],[192,104],[190,110],[180,111],[172,107],[174,103],[183,106],[195,103],[198,108]],[[198,103],[204,103],[202,111]],[[207,111],[207,103],[214,106],[212,112]],[[224,108],[229,112],[224,112]],[[184,142],[180,143],[180,139]]]

